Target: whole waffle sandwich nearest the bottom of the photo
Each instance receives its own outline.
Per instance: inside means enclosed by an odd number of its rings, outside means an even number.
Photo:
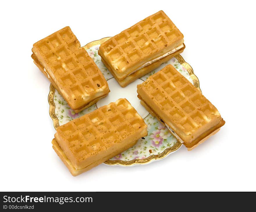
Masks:
[[[143,118],[119,99],[57,128],[53,148],[77,176],[133,146],[147,135]]]

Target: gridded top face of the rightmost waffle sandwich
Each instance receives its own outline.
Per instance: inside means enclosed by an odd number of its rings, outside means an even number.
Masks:
[[[150,76],[142,89],[167,116],[189,134],[208,123],[218,110],[172,65]]]

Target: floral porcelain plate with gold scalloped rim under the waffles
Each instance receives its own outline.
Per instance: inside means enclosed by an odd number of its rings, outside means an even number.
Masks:
[[[137,85],[141,84],[150,75],[161,70],[167,64],[172,64],[180,73],[182,73],[183,76],[185,76],[197,89],[200,90],[198,78],[194,75],[193,69],[184,61],[182,56],[177,55],[168,62],[163,63],[154,71],[151,71],[147,75],[137,79],[127,87],[122,88],[115,81],[105,65],[101,62],[101,58],[98,55],[100,44],[109,38],[110,37],[106,37],[90,42],[86,46],[83,46],[83,48],[86,49],[90,57],[93,58],[94,62],[102,71],[109,84],[110,93],[105,98],[99,100],[95,105],[92,105],[79,113],[75,113],[67,105],[67,102],[58,93],[58,91],[54,89],[53,85],[50,85],[50,93],[48,96],[48,101],[50,104],[49,113],[53,120],[54,127],[57,128],[58,126],[63,125],[74,118],[78,118],[84,114],[92,112],[98,107],[107,105],[110,102],[115,102],[119,98],[127,98],[141,117],[144,118],[145,123],[147,124],[148,135],[145,138],[139,139],[136,145],[130,149],[106,161],[105,164],[131,166],[134,164],[146,164],[157,159],[162,159],[168,154],[177,151],[182,144],[170,134],[165,125],[161,124],[161,122],[151,116],[149,112],[147,112],[147,110],[140,104],[140,100],[137,98]]]

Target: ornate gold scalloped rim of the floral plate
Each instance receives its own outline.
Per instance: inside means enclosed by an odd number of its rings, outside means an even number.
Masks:
[[[88,49],[92,46],[102,44],[110,38],[111,37],[104,37],[102,39],[92,41],[92,42],[86,44],[85,46],[83,46],[83,48]],[[192,67],[184,60],[184,58],[180,54],[176,55],[175,58],[179,61],[179,63],[182,66],[184,66],[186,68],[186,70],[189,72],[189,75],[190,75],[190,77],[192,78],[192,80],[194,82],[194,86],[198,90],[201,91],[201,89],[199,87],[199,80],[198,80],[197,76],[195,76]],[[59,121],[58,121],[58,118],[55,114],[54,93],[55,93],[55,88],[52,84],[50,84],[50,92],[49,92],[49,95],[48,95],[48,103],[50,105],[49,114],[50,114],[50,117],[53,121],[54,128],[56,129],[57,127],[59,127]],[[134,164],[147,164],[147,163],[150,163],[154,160],[160,160],[160,159],[165,158],[170,153],[173,153],[173,152],[177,151],[181,147],[181,145],[182,145],[182,143],[177,141],[177,143],[174,146],[172,146],[170,148],[167,148],[162,153],[156,154],[156,155],[150,155],[149,157],[147,157],[145,159],[133,159],[131,161],[107,160],[104,163],[107,164],[107,165],[112,165],[112,166],[113,165],[132,166]]]

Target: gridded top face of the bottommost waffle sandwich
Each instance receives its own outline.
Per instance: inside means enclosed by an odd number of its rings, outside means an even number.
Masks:
[[[58,127],[57,133],[76,158],[85,160],[108,150],[143,126],[143,119],[131,104],[120,99]]]

